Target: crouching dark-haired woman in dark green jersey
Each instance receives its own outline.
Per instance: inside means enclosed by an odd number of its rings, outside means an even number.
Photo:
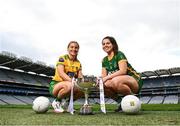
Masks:
[[[129,64],[124,53],[119,51],[116,40],[111,36],[103,38],[102,48],[107,53],[102,61],[105,94],[116,101],[120,100],[118,94],[138,94],[143,85],[141,76]]]

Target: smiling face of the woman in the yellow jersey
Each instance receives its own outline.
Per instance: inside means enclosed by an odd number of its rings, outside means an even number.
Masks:
[[[72,57],[76,57],[79,51],[79,44],[75,41],[72,41],[68,45],[68,53]]]

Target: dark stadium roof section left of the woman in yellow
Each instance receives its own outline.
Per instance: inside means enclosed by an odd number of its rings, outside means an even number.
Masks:
[[[18,58],[15,54],[5,51],[0,53],[0,66],[19,69],[25,72],[45,74],[47,76],[54,75],[54,67],[47,66],[41,61],[33,62],[27,57]]]

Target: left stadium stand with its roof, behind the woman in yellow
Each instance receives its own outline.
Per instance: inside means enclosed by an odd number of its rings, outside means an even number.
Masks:
[[[0,104],[32,104],[37,96],[50,97],[48,83],[53,73],[54,68],[40,61],[0,53]]]

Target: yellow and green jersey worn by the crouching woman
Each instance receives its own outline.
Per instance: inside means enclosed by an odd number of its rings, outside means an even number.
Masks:
[[[78,76],[78,71],[81,70],[81,63],[79,60],[72,61],[67,54],[60,56],[59,61],[56,63],[55,75],[53,77],[53,80],[55,81],[63,81],[57,70],[59,64],[64,66],[64,72],[71,78],[76,78]]]

